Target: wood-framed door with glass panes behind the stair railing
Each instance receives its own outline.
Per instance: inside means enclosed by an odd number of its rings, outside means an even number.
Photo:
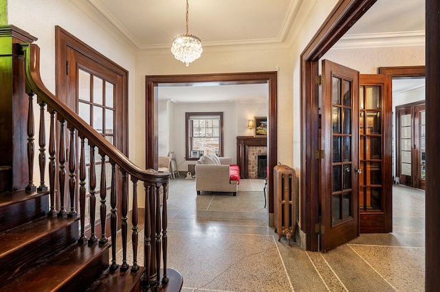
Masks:
[[[121,114],[118,112],[122,106],[122,81],[120,75],[110,71],[102,64],[94,62],[91,58],[84,56],[72,48],[67,48],[67,60],[69,66],[67,67],[67,101],[70,106],[76,110],[78,115],[83,118],[89,125],[101,134],[104,138],[112,143],[115,147],[118,147],[122,151],[123,149],[123,134],[121,127],[124,123],[121,121]],[[78,145],[78,152],[80,151],[80,145]],[[91,167],[90,161],[90,146],[85,143],[85,160],[86,160],[86,182],[89,182],[89,169]],[[94,200],[96,206],[94,210],[90,210],[90,196],[89,192],[86,193],[85,201],[85,230],[87,236],[89,236],[90,226],[90,212],[94,212],[94,219],[96,219],[96,236],[101,235],[101,218],[100,208],[101,204],[105,205],[106,216],[106,232],[110,232],[110,210],[111,210],[111,164],[109,157],[105,156],[105,160],[102,161],[102,157],[98,153],[98,149],[95,148],[95,171],[96,171],[96,188],[94,189]],[[78,154],[77,156],[78,157]],[[78,169],[78,167],[77,167]],[[105,177],[105,190],[101,189],[100,178]],[[102,200],[102,196],[105,192],[105,201]],[[117,202],[122,202],[122,184],[120,178],[117,180]],[[121,216],[121,208],[118,206],[118,216]],[[118,228],[120,228],[121,221],[118,221]]]

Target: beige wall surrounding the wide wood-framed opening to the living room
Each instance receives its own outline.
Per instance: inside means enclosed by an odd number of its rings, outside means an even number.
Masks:
[[[246,46],[242,49],[233,48],[234,51],[229,52],[223,51],[224,48],[220,50],[205,47],[201,58],[188,67],[175,60],[168,49],[141,51],[136,59],[135,99],[138,106],[135,108],[135,116],[142,117],[140,121],[142,126],[136,127],[133,134],[144,136],[145,133],[146,75],[260,72],[274,71],[278,67],[278,125],[283,121],[282,127],[278,128],[278,157],[292,164],[292,151],[289,146],[292,145],[292,67],[287,61],[289,55],[286,49],[279,49],[278,46],[266,45],[266,47],[267,49],[261,49],[256,46]],[[241,118],[237,114],[234,119],[248,119],[248,117]],[[234,130],[234,132],[242,134],[243,130]],[[230,155],[234,156],[234,153]]]

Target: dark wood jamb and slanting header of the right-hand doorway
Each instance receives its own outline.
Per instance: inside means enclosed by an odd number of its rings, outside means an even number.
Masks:
[[[301,229],[307,234],[306,250],[318,250],[319,223],[318,60],[371,8],[376,0],[340,0],[301,53]]]

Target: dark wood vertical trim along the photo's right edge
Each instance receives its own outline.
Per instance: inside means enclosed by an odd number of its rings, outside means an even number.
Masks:
[[[426,0],[426,253],[425,291],[437,291],[440,275],[440,1]]]

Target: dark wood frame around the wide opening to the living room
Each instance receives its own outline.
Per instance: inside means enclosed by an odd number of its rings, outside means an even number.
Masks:
[[[146,76],[146,167],[153,168],[157,164],[157,86],[159,84],[224,82],[225,84],[269,84],[269,129],[267,145],[267,165],[273,169],[277,163],[278,126],[277,126],[277,73],[249,72],[249,73],[219,73],[196,75],[153,75]],[[268,175],[268,209],[274,212],[274,179]]]

